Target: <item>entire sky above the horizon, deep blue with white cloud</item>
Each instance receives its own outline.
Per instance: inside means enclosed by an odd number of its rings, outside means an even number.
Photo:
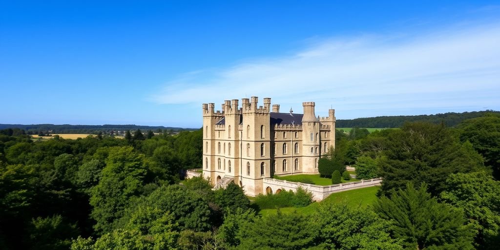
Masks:
[[[500,110],[498,1],[0,1],[0,123],[201,126]],[[227,87],[232,85],[233,87]]]

